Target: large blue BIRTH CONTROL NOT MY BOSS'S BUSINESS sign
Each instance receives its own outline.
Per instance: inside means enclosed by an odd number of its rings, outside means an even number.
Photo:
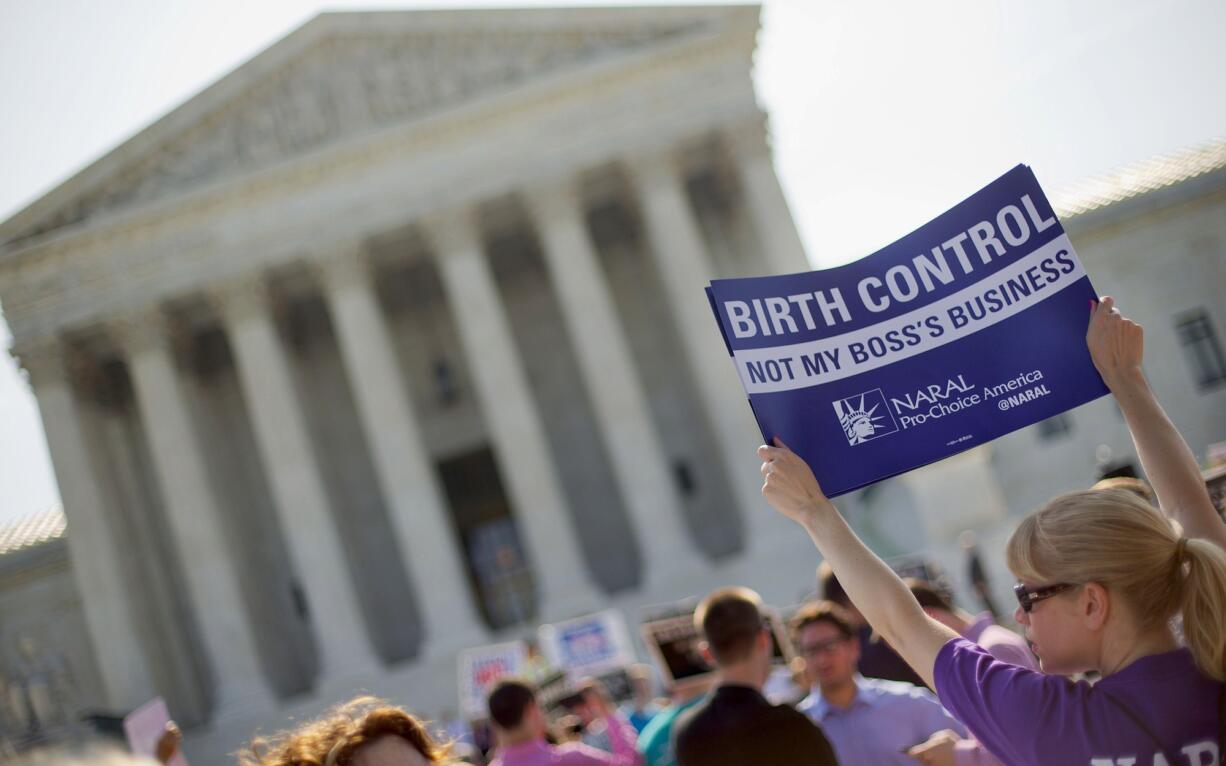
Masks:
[[[763,438],[829,496],[1107,392],[1094,288],[1025,165],[855,264],[707,294]]]

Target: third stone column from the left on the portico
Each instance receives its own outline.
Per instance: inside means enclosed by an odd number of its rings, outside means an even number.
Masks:
[[[289,360],[257,277],[216,294],[234,349],[239,385],[268,476],[291,560],[310,605],[320,653],[320,686],[379,668],[337,520],[329,507],[324,478],[294,390]]]

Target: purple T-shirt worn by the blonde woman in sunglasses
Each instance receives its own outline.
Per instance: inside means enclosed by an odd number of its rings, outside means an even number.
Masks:
[[[1143,657],[1091,686],[1008,664],[965,639],[937,654],[937,694],[1011,766],[1216,764],[1221,685],[1187,650]],[[1114,701],[1113,701],[1114,700]],[[1143,721],[1139,727],[1122,706]]]

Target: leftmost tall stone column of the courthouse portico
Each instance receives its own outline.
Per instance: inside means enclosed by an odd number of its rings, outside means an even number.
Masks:
[[[16,353],[29,371],[42,411],[47,446],[67,517],[72,576],[89,626],[107,705],[116,712],[129,711],[157,694],[137,635],[134,602],[141,594],[124,578],[123,540],[102,502],[103,490],[86,445],[85,425],[64,355],[66,351],[59,343],[47,342],[20,348]]]

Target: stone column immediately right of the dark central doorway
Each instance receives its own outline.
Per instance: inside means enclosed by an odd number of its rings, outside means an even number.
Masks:
[[[477,223],[472,214],[440,214],[428,222],[428,234],[498,466],[511,494],[516,526],[525,533],[542,616],[555,619],[591,609],[598,603],[596,591]]]

